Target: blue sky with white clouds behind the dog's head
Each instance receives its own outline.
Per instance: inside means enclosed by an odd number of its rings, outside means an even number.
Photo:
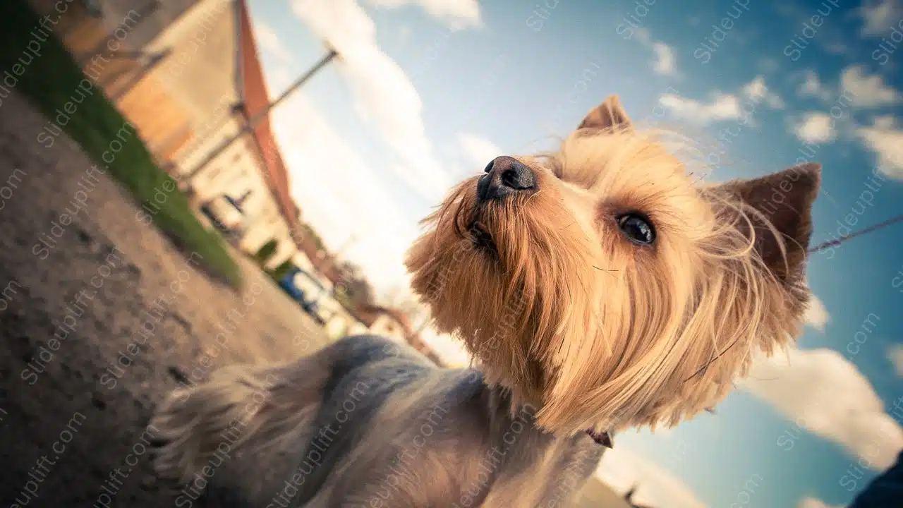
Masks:
[[[346,55],[275,126],[305,220],[390,294],[449,185],[553,146],[612,93],[640,122],[736,133],[721,134],[712,181],[822,163],[815,242],[903,212],[903,3],[833,2],[250,5],[271,95],[320,58],[321,37]],[[818,303],[799,349],[759,362],[717,415],[619,436],[611,484],[638,479],[665,507],[840,506],[903,447],[903,225],[816,254],[808,279]]]

